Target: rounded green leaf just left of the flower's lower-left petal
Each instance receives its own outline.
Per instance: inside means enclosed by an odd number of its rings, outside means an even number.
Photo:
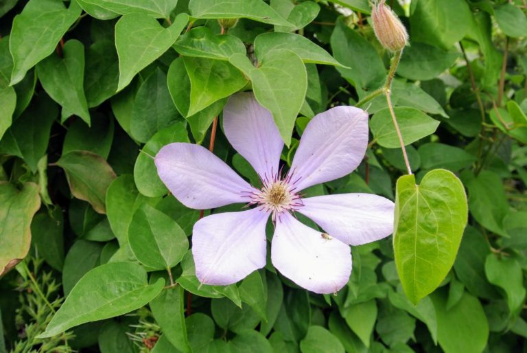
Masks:
[[[135,257],[149,269],[176,266],[189,249],[189,241],[175,220],[149,205],[134,213],[128,241]]]

